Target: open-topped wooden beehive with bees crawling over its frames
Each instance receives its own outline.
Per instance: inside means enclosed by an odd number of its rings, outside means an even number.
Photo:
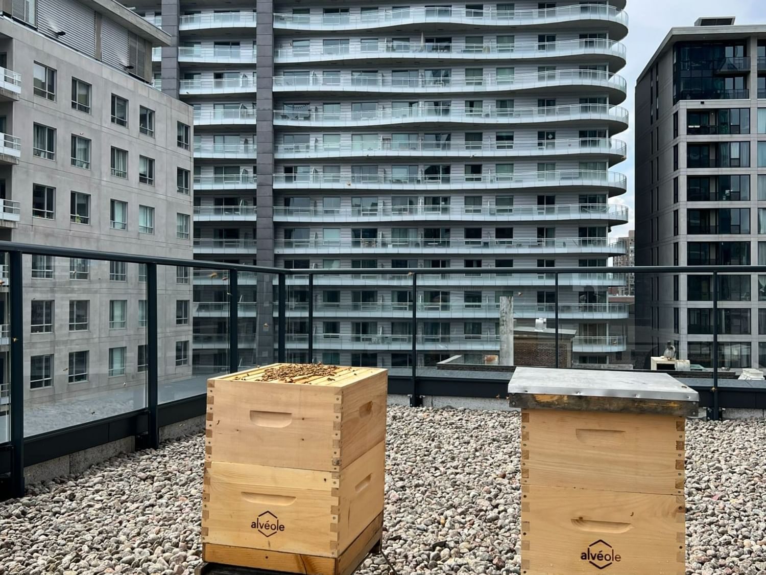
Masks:
[[[344,575],[381,537],[386,370],[274,364],[208,380],[206,561]]]

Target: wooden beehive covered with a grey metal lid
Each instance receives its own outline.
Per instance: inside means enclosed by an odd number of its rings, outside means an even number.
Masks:
[[[685,573],[684,429],[665,373],[516,368],[522,575]]]

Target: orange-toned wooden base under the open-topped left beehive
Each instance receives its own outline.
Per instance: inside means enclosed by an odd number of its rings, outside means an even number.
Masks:
[[[249,547],[202,545],[203,563],[196,575],[246,575],[247,573],[303,573],[351,575],[370,552],[381,549],[383,514],[370,523],[339,557],[318,557]],[[244,567],[244,569],[242,569]],[[219,570],[220,569],[220,570]]]

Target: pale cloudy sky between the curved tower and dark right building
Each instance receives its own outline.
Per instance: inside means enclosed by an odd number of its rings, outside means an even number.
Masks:
[[[621,105],[630,110],[630,129],[615,136],[628,148],[627,161],[614,170],[627,176],[628,192],[614,202],[630,207],[630,223],[613,228],[613,236],[627,235],[633,228],[633,94],[638,74],[673,26],[692,26],[700,16],[735,16],[736,24],[766,24],[764,4],[763,0],[627,0],[628,35],[623,40],[627,65],[619,74],[627,80],[627,100]]]

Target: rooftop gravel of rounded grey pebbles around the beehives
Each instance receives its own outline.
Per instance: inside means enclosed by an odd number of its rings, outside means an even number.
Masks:
[[[0,573],[192,573],[203,436],[0,503]],[[766,421],[687,424],[686,573],[766,573]],[[520,573],[519,415],[390,406],[384,551],[400,575]],[[381,556],[359,573],[387,573]]]

